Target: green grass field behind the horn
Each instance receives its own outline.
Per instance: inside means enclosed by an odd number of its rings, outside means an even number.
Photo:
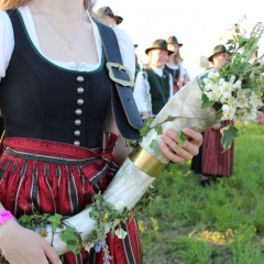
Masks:
[[[241,125],[234,174],[202,188],[190,163],[169,165],[163,196],[139,220],[147,264],[264,264],[264,125]]]

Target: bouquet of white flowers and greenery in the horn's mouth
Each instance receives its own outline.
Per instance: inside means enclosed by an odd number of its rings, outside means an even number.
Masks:
[[[241,34],[239,24],[228,41],[230,58],[218,72],[207,72],[199,78],[202,88],[202,108],[215,107],[222,120],[240,121],[255,120],[261,116],[258,109],[263,106],[263,56],[250,63],[257,42],[264,31],[262,23],[257,23],[250,37]],[[231,146],[238,135],[238,129],[230,125],[223,132],[222,144],[224,150]]]

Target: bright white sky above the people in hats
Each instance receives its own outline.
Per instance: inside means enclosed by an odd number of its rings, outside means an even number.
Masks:
[[[245,14],[243,25],[249,31],[258,21],[264,21],[261,0],[98,0],[96,9],[109,6],[123,16],[120,25],[140,46],[136,53],[146,62],[144,50],[156,38],[176,35],[183,43],[180,48],[184,65],[191,77],[200,74],[200,55],[210,56],[220,37]],[[264,37],[260,54],[264,53]]]

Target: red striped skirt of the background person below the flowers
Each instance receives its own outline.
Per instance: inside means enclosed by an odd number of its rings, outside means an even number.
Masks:
[[[233,122],[232,122],[233,123]],[[230,124],[223,121],[222,128]],[[205,175],[229,176],[233,173],[233,143],[223,152],[220,130],[207,130],[204,132],[201,173]]]

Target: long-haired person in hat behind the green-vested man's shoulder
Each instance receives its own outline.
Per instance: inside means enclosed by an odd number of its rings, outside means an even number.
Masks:
[[[179,48],[183,46],[178,43],[176,36],[169,36],[167,38],[167,48],[173,52],[167,59],[165,69],[169,72],[173,76],[174,94],[176,94],[184,85],[185,69],[183,67],[183,58],[179,54]]]

